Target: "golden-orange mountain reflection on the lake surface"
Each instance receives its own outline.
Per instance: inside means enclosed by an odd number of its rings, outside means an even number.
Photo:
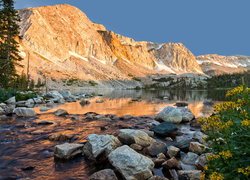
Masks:
[[[118,116],[124,115],[133,115],[133,116],[142,116],[142,115],[155,115],[161,109],[166,106],[173,106],[175,102],[171,101],[133,101],[131,98],[118,98],[118,99],[109,99],[101,98],[104,100],[103,103],[97,103],[96,100],[100,98],[90,99],[90,104],[81,106],[79,102],[71,102],[58,105],[48,112],[54,112],[57,109],[64,109],[68,111],[69,114],[85,114],[87,112],[95,112],[98,114],[115,114]],[[211,107],[205,107],[203,101],[192,101],[189,102],[189,109],[194,113],[196,117],[203,116],[212,111]],[[35,111],[40,112],[39,108],[36,107]]]

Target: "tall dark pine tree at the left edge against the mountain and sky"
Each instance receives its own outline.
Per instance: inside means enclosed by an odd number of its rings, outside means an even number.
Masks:
[[[16,38],[20,18],[13,0],[0,0],[0,87],[8,88],[17,77],[15,66],[22,58]]]

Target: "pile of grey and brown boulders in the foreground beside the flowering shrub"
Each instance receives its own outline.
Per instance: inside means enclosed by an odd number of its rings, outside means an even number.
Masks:
[[[76,155],[83,155],[95,163],[108,162],[112,165],[113,169],[103,169],[90,176],[93,180],[118,179],[119,176],[128,180],[167,179],[154,176],[154,168],[162,168],[164,174],[169,174],[171,177],[168,178],[171,179],[198,180],[206,165],[207,147],[202,144],[205,135],[198,131],[189,139],[184,140],[179,136],[179,141],[173,140],[167,143],[166,138],[159,139],[154,134],[164,131],[162,135],[167,137],[168,132],[176,129],[176,125],[163,122],[153,127],[152,131],[120,129],[117,137],[91,134],[84,145],[69,143],[57,145],[54,156],[70,159]],[[188,149],[183,144],[188,144]]]

